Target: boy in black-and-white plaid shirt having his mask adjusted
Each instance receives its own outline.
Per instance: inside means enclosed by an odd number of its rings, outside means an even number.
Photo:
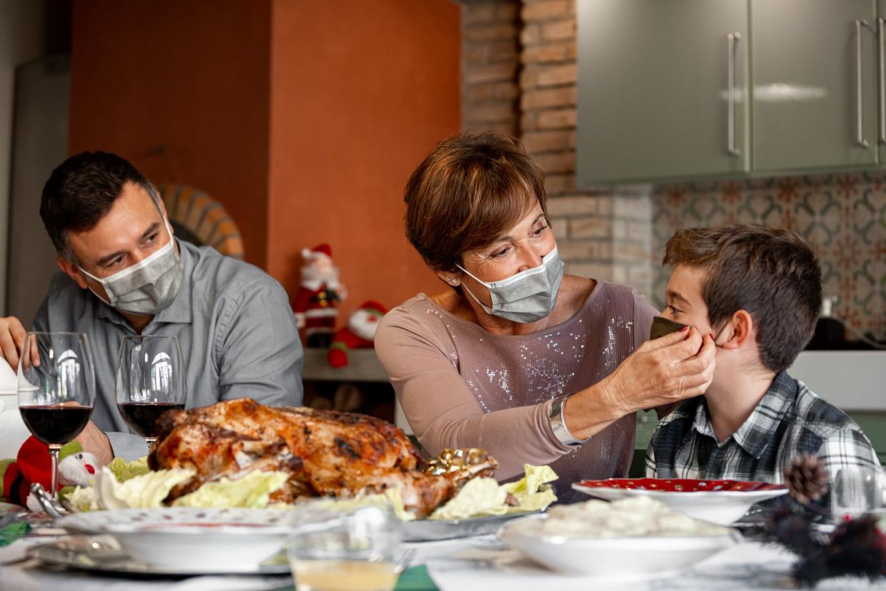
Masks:
[[[647,476],[781,482],[804,452],[831,482],[843,467],[880,468],[859,425],[786,371],[821,307],[819,262],[802,238],[751,225],[681,229],[664,264],[674,269],[662,315],[710,333],[717,369],[703,396],[658,424]]]

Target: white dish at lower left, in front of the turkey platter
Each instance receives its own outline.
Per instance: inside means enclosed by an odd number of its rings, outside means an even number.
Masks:
[[[111,534],[137,562],[172,570],[254,572],[284,546],[292,514],[273,509],[122,509],[62,517],[58,527]]]

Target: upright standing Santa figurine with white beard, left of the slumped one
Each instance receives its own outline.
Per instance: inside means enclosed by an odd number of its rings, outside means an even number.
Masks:
[[[317,245],[301,251],[301,284],[292,299],[292,311],[307,346],[327,347],[335,332],[337,302],[347,297],[338,283],[338,268],[332,264],[330,245]]]

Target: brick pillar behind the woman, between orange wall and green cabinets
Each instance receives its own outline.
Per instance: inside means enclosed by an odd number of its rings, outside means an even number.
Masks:
[[[649,294],[649,187],[575,188],[575,2],[462,2],[462,127],[519,136],[539,162],[567,273]]]

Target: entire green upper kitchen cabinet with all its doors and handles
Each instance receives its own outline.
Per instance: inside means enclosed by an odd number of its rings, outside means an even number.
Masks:
[[[579,186],[886,162],[886,0],[577,7]]]

